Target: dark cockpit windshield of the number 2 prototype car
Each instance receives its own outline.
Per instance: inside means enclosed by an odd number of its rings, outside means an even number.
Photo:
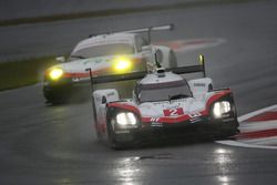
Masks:
[[[170,101],[192,96],[186,81],[141,85],[141,102]]]

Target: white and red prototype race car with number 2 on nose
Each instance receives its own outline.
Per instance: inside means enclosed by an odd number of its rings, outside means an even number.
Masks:
[[[204,78],[186,81],[181,74],[203,72]],[[161,136],[185,136],[186,131],[203,127],[224,136],[237,132],[238,121],[230,89],[213,89],[205,64],[156,69],[111,76],[91,76],[98,83],[138,80],[133,97],[121,100],[115,89],[92,93],[94,124],[100,140],[121,148]]]

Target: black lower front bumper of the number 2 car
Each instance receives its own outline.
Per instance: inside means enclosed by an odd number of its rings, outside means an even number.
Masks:
[[[115,141],[132,144],[145,141],[160,141],[168,138],[186,138],[192,134],[214,134],[218,136],[230,136],[238,127],[236,119],[227,121],[212,121],[205,117],[198,122],[182,123],[142,123],[138,129],[115,132]]]

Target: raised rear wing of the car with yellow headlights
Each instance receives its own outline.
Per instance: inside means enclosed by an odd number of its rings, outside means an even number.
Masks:
[[[154,27],[146,27],[146,28],[138,28],[138,29],[133,29],[133,30],[122,30],[122,31],[115,31],[115,32],[102,32],[102,33],[95,33],[95,34],[90,34],[89,38],[101,35],[101,34],[112,34],[112,33],[144,33],[147,32],[147,39],[148,43],[151,42],[151,32],[153,31],[172,31],[174,29],[174,24],[164,24],[164,25],[154,25]]]

